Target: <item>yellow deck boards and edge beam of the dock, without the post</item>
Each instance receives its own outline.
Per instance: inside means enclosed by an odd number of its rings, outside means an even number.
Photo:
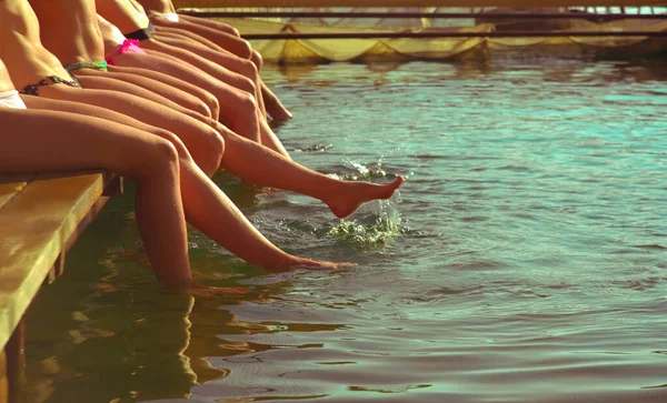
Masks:
[[[0,210],[0,346],[100,199],[102,174],[37,180]]]

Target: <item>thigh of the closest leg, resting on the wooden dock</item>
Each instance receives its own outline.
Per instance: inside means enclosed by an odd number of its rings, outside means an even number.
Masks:
[[[162,142],[123,124],[57,111],[0,108],[0,121],[1,172],[107,169],[133,178]]]

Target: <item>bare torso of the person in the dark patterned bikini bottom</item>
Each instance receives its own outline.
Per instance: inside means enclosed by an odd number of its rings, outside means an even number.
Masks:
[[[48,75],[70,79],[58,58],[42,46],[37,17],[27,0],[0,0],[0,59],[18,89]]]

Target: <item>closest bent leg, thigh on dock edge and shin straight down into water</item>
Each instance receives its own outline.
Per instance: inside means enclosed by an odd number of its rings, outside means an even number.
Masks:
[[[156,276],[168,284],[190,280],[173,145],[128,127],[59,112],[0,108],[0,120],[2,172],[108,169],[136,181],[137,224]],[[7,128],[20,128],[20,135]]]

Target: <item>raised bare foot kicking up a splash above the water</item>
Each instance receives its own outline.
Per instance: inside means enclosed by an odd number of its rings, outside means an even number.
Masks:
[[[394,182],[377,184],[370,182],[345,182],[342,189],[337,189],[331,193],[325,203],[331,209],[331,212],[339,219],[344,219],[359,208],[359,205],[378,199],[389,199],[394,192],[406,180],[398,175]]]

